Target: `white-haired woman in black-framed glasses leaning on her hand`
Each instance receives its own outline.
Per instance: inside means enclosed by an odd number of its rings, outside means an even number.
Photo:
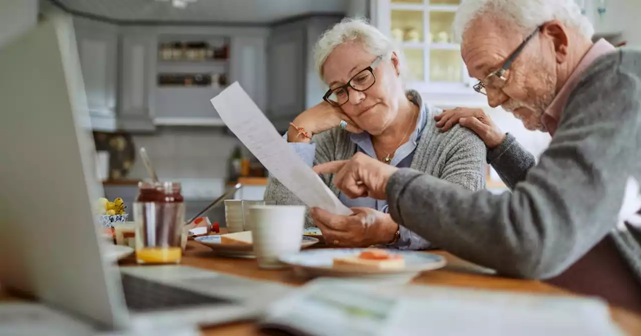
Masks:
[[[285,134],[309,166],[349,159],[361,152],[470,191],[485,188],[483,141],[458,125],[447,132],[435,127],[433,116],[440,111],[425,104],[418,92],[404,90],[402,54],[378,29],[362,20],[343,20],[320,37],[315,62],[329,90],[320,104],[298,115]],[[349,198],[334,186],[333,175],[322,178],[354,212],[350,216],[320,209],[310,212],[306,227],[319,227],[328,244],[412,250],[429,247],[427,241],[392,220],[385,201]],[[303,204],[273,177],[267,183],[265,199]]]

